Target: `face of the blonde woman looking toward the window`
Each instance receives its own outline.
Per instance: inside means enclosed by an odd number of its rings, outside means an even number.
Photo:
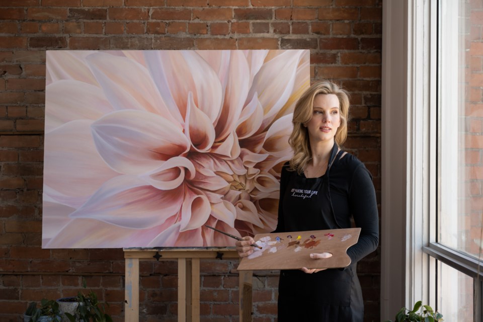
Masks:
[[[317,94],[313,99],[312,118],[304,125],[310,143],[333,141],[341,125],[339,98],[335,94]]]

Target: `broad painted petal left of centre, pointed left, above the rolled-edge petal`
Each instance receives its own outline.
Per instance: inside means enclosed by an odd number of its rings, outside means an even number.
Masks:
[[[93,123],[92,133],[105,162],[123,174],[150,172],[190,148],[179,127],[144,111],[107,114]]]

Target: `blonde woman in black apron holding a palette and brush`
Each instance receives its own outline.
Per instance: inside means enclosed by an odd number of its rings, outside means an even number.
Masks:
[[[361,228],[347,251],[351,265],[341,269],[280,272],[278,321],[362,322],[364,305],[357,262],[379,243],[378,212],[372,176],[339,145],[347,137],[349,97],[336,84],[312,85],[297,102],[289,143],[293,157],[281,172],[278,225],[274,232]],[[292,189],[311,190],[310,198]],[[240,257],[253,253],[252,237],[236,242]],[[329,253],[310,254],[324,267]]]

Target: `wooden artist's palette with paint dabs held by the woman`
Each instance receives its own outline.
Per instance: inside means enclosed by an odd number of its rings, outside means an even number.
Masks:
[[[263,233],[254,236],[261,250],[241,259],[239,271],[340,268],[351,264],[347,249],[357,243],[361,228]],[[326,259],[311,259],[312,253],[332,253]]]

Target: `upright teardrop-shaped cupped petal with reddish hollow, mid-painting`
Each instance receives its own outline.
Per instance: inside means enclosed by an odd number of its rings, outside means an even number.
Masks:
[[[215,129],[208,116],[200,111],[193,101],[193,94],[188,94],[186,108],[185,134],[193,148],[199,152],[211,149],[215,140]]]

